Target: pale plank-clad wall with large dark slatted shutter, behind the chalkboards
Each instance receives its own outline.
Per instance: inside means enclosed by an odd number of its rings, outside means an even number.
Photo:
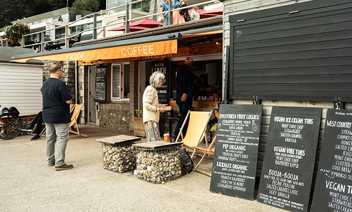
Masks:
[[[299,12],[289,14],[295,10]],[[251,104],[256,96],[263,105],[257,177],[272,107],[307,107],[322,109],[315,181],[327,109],[334,108],[334,97],[352,109],[351,21],[352,4],[345,0],[224,2],[229,98],[234,104]]]

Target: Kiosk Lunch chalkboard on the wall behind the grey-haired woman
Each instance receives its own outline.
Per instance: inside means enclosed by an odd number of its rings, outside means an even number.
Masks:
[[[159,103],[161,104],[167,104],[168,103],[168,75],[170,73],[169,70],[169,62],[167,60],[164,61],[152,61],[151,62],[151,73],[159,71],[160,73],[165,75],[165,81],[163,85],[157,89],[158,91],[158,99]],[[149,75],[149,76],[150,76]]]

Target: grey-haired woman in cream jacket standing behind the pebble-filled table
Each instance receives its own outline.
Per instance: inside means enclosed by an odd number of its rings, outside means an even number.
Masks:
[[[150,85],[143,93],[143,123],[147,142],[160,141],[159,115],[166,112],[167,104],[159,104],[157,88],[160,88],[165,80],[165,75],[154,72],[149,78]]]

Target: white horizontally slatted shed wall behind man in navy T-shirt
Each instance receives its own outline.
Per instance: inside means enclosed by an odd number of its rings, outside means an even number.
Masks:
[[[42,66],[0,64],[0,105],[16,107],[20,115],[41,111]]]

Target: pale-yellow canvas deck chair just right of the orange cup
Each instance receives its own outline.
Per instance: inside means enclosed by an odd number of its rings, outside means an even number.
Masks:
[[[186,124],[186,121],[189,117],[187,133],[185,137],[183,137],[182,129]],[[206,127],[211,117],[211,111],[209,112],[200,112],[200,111],[188,111],[185,121],[182,124],[180,129],[180,133],[177,136],[176,141],[179,140],[180,136],[182,138],[182,146],[188,149],[193,150],[191,158],[194,155],[194,147],[205,139],[206,146],[208,148]]]

